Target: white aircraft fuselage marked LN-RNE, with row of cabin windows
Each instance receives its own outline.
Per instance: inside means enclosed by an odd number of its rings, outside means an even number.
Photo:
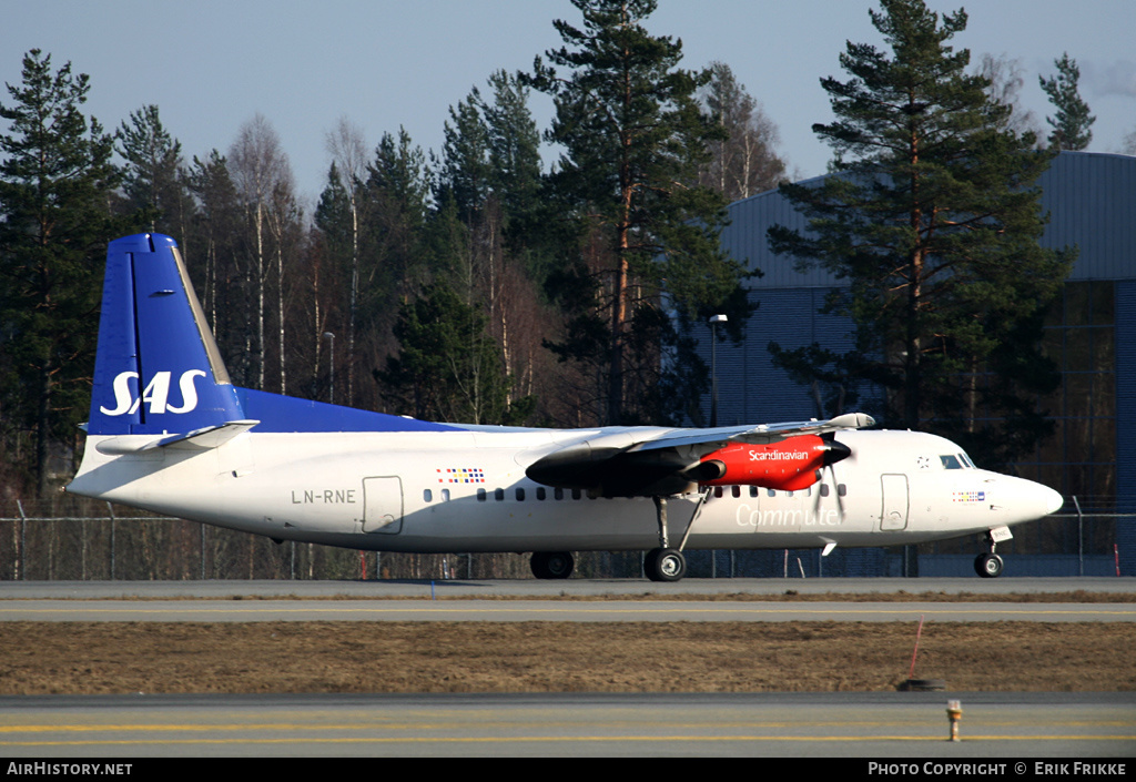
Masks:
[[[160,439],[152,435],[92,435],[68,490],[278,540],[356,549],[655,547],[650,498],[590,498],[526,477],[526,467],[540,457],[595,434],[253,430],[209,449],[143,448]],[[1045,486],[969,466],[961,449],[935,435],[843,431],[836,436],[853,456],[825,469],[810,489],[712,490],[686,548],[902,544],[1036,519],[1060,505],[1060,496]],[[673,546],[698,499],[695,493],[670,499]]]

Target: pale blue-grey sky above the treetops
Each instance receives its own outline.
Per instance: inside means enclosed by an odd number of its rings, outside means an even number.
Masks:
[[[1091,151],[1117,152],[1136,131],[1136,0],[928,0],[964,7],[958,48],[1018,60],[1021,102],[1052,114],[1038,75],[1068,52],[1096,115]],[[780,135],[794,178],[825,172],[829,149],[811,131],[828,122],[820,80],[845,78],[847,41],[882,45],[877,0],[659,0],[646,27],[683,42],[683,67],[726,63]],[[157,105],[186,159],[227,152],[242,124],[264,115],[279,135],[309,208],[326,182],[326,136],[341,118],[374,149],[404,127],[441,151],[449,109],[498,69],[531,69],[561,44],[553,19],[579,23],[569,0],[9,0],[0,22],[0,82],[17,85],[25,52],[70,63],[91,78],[86,113],[107,130]],[[7,90],[0,102],[10,102]],[[542,127],[551,102],[532,97]],[[3,128],[7,130],[7,128]],[[551,153],[548,156],[551,157]],[[551,160],[549,160],[551,161]]]

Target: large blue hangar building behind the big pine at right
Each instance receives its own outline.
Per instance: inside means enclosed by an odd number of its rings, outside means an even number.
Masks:
[[[1055,433],[1014,469],[1060,491],[1066,505],[1055,517],[1018,527],[999,554],[1008,576],[1116,575],[1118,567],[1121,575],[1136,575],[1136,436],[1129,434],[1136,431],[1136,157],[1061,152],[1038,184],[1050,214],[1043,244],[1076,246],[1079,252],[1045,328],[1047,355],[1062,376],[1059,391],[1043,402]],[[758,309],[744,324],[744,340],[735,346],[719,336],[718,424],[816,417],[811,390],[772,365],[768,344],[847,350],[850,322],[819,313],[842,283],[819,269],[800,273],[793,258],[770,252],[769,226],[807,228],[778,191],[730,205],[729,218],[724,248],[763,276],[747,281]],[[709,326],[699,332],[709,364]],[[709,394],[702,409],[709,419]],[[810,551],[791,558],[800,556],[812,574],[972,575],[980,550],[974,540],[928,543],[917,552],[837,550],[821,561]],[[747,574],[780,575],[782,557],[753,561]]]

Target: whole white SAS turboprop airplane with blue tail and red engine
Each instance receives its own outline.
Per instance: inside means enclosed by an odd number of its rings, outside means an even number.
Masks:
[[[643,550],[683,577],[687,549],[896,546],[985,534],[1061,506],[932,434],[830,421],[588,430],[416,421],[236,388],[168,236],[114,241],[86,450],[68,491],[204,524],[352,549]]]

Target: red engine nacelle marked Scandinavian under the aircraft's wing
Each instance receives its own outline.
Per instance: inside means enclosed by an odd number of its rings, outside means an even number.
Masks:
[[[753,485],[782,491],[808,489],[826,465],[849,456],[847,446],[802,434],[768,446],[736,443],[702,457],[702,485]],[[712,477],[711,477],[712,476]]]

